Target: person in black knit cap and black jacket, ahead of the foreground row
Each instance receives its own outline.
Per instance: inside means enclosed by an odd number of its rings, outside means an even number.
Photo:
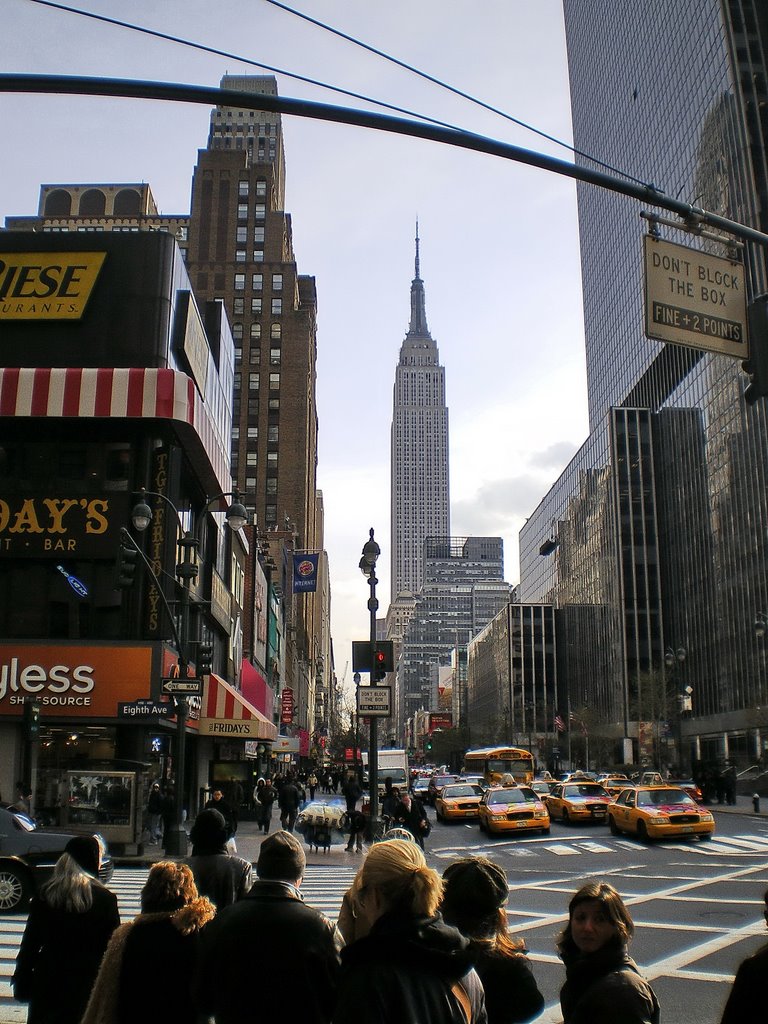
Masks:
[[[189,833],[191,867],[195,885],[201,896],[207,896],[217,910],[242,899],[253,884],[251,862],[226,852],[226,822],[215,808],[201,811]]]

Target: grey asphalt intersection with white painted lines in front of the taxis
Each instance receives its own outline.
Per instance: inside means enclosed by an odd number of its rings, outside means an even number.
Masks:
[[[555,939],[570,896],[605,881],[635,921],[631,953],[651,982],[664,1024],[719,1024],[741,959],[768,941],[768,819],[719,812],[717,834],[642,844],[607,826],[553,822],[547,837],[488,838],[476,824],[434,824],[428,859],[441,870],[458,856],[482,853],[510,883],[509,919],[529,950],[547,1000],[542,1022],[561,1020],[564,969]]]

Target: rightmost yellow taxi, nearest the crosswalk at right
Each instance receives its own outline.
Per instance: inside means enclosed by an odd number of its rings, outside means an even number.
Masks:
[[[625,790],[608,808],[608,823],[614,836],[629,833],[641,840],[668,836],[710,839],[715,831],[715,818],[710,811],[674,785]]]

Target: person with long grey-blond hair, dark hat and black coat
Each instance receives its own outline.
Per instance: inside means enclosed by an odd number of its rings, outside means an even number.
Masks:
[[[120,925],[118,900],[98,881],[101,844],[76,836],[34,897],[11,984],[29,1002],[29,1024],[80,1024],[106,943]]]

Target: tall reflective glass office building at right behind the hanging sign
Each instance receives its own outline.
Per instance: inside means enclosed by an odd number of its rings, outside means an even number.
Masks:
[[[765,6],[564,13],[577,161],[765,231]],[[590,436],[520,534],[519,596],[555,606],[560,686],[614,760],[745,767],[768,740],[765,401],[744,402],[737,359],[646,338],[639,214],[579,185]],[[753,300],[761,247],[744,262]]]

